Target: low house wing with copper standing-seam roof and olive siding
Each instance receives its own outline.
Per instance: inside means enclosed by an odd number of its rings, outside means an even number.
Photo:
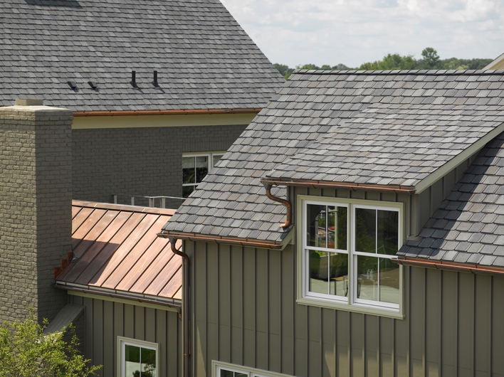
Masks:
[[[83,354],[103,365],[102,376],[141,370],[140,360],[128,359],[131,350],[152,356],[156,376],[181,375],[182,263],[157,237],[173,213],[72,203],[73,253],[54,287],[68,292],[65,307],[82,309],[63,325],[73,322],[80,331]]]

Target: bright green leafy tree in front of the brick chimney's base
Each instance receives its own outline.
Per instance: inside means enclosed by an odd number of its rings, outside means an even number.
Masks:
[[[90,360],[78,352],[78,338],[69,344],[63,339],[66,329],[44,334],[48,322],[38,324],[31,315],[24,321],[0,326],[0,377],[87,377],[101,366],[88,366]]]

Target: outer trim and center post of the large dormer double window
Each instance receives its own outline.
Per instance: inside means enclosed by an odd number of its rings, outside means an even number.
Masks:
[[[350,198],[334,198],[325,196],[308,196],[308,195],[298,195],[297,198],[297,223],[300,225],[296,227],[297,235],[296,241],[298,244],[297,253],[297,299],[298,304],[305,304],[316,307],[326,307],[330,309],[339,309],[347,312],[357,312],[364,314],[375,314],[381,317],[392,317],[397,319],[404,319],[404,267],[399,265],[399,308],[391,308],[386,304],[371,304],[367,302],[355,302],[353,297],[353,292],[355,292],[355,282],[352,277],[350,277],[349,282],[349,293],[346,300],[342,299],[328,299],[327,297],[316,297],[317,294],[306,294],[306,268],[308,262],[306,261],[305,253],[305,229],[306,229],[306,205],[307,204],[320,204],[334,206],[337,204],[345,205],[348,208],[347,217],[347,254],[349,256],[348,271],[349,275],[355,276],[355,254],[351,250],[355,247],[353,243],[355,239],[352,232],[354,231],[354,218],[355,218],[355,207],[359,208],[372,208],[384,210],[393,210],[399,212],[399,245],[404,242],[404,203],[401,202],[389,202],[389,201],[372,201],[363,199],[350,199]]]

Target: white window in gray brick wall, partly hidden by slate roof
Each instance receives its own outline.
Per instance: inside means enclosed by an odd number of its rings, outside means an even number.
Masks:
[[[182,156],[182,196],[187,198],[206,174],[214,169],[225,152],[184,154]]]

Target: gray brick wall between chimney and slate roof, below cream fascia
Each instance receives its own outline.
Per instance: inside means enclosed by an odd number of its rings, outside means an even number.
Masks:
[[[73,129],[73,198],[110,203],[121,193],[182,196],[182,153],[226,151],[245,128]]]

